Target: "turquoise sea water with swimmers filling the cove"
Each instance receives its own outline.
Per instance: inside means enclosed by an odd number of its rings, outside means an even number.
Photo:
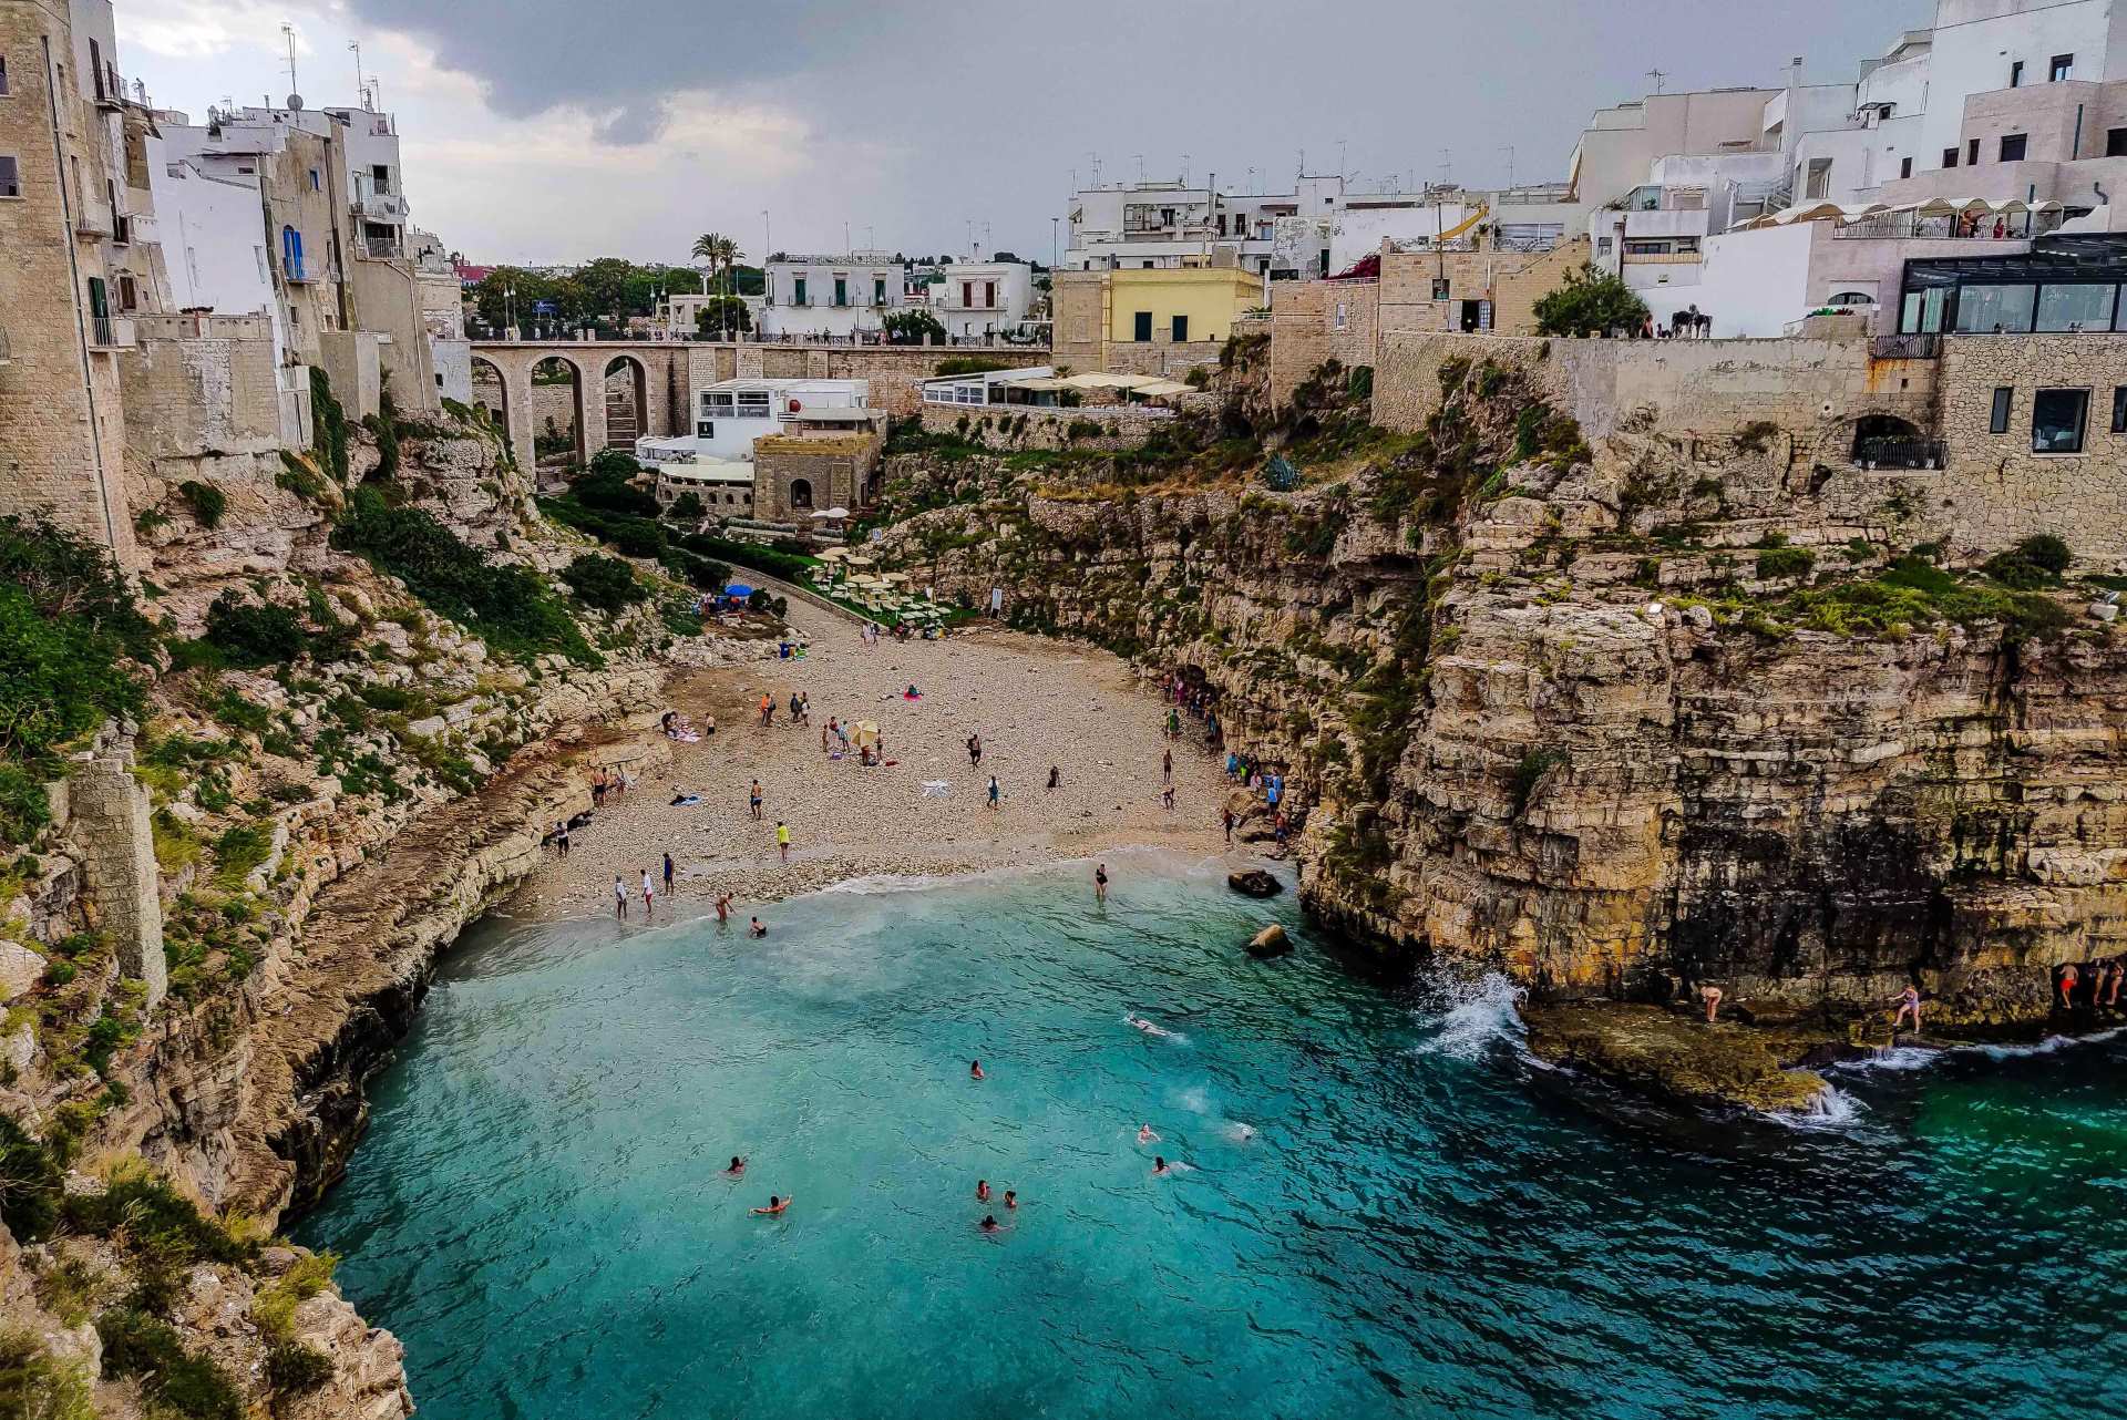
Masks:
[[[1110,869],[487,923],[298,1237],[428,1420],[2127,1414],[2127,1044],[1693,1129]]]

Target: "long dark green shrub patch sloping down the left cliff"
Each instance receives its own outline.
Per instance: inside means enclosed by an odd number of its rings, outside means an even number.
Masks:
[[[553,589],[530,568],[487,561],[428,512],[391,508],[374,489],[359,489],[347,512],[332,529],[332,546],[398,576],[425,606],[464,623],[491,648],[596,659]]]

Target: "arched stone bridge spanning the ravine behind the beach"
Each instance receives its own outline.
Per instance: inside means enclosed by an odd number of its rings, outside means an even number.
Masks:
[[[781,344],[727,340],[474,340],[474,381],[483,374],[502,387],[496,415],[519,459],[532,459],[534,385],[532,372],[549,359],[574,376],[576,457],[606,449],[604,387],[608,374],[625,372],[634,385],[638,434],[685,434],[687,410],[700,385],[730,378],[832,378],[870,381],[872,408],[912,415],[921,404],[917,383],[938,372],[938,361],[955,357],[1002,359],[1015,366],[1046,366],[1049,346],[1025,344]],[[487,366],[483,370],[481,366]],[[493,385],[474,383],[485,400]],[[621,440],[625,444],[625,438]]]

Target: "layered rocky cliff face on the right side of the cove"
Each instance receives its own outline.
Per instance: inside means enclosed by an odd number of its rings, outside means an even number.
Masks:
[[[1202,676],[1291,767],[1317,914],[1540,997],[1846,1020],[1916,982],[1929,1031],[2002,1033],[2127,950],[2127,642],[2072,580],[2108,570],[1959,576],[1925,476],[1761,429],[1589,446],[1510,368],[1444,370],[1410,438],[1325,383],[1297,491],[1215,436],[934,449],[887,470],[927,506],[887,546]]]

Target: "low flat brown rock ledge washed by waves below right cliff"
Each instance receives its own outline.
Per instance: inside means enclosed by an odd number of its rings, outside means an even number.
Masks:
[[[1802,1059],[1825,1037],[1797,1029],[1706,1025],[1663,1005],[1587,1003],[1523,1010],[1529,1050],[1627,1088],[1697,1108],[1808,1114],[1831,1086]]]

